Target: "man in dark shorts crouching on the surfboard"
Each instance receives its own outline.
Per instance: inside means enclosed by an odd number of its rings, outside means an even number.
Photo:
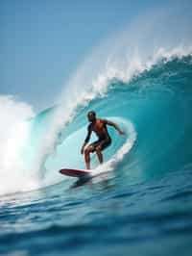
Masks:
[[[90,124],[87,127],[87,136],[84,140],[84,144],[82,146],[81,153],[84,154],[84,159],[86,163],[86,168],[90,169],[90,153],[97,153],[100,164],[103,164],[103,155],[102,150],[108,147],[111,143],[111,139],[108,135],[107,125],[113,126],[120,135],[125,135],[123,131],[119,128],[119,126],[107,119],[100,119],[96,117],[96,113],[94,111],[90,111],[87,114],[88,121]],[[90,140],[91,133],[95,132],[98,137],[98,141],[94,141],[89,144],[85,150],[84,147],[87,142]]]

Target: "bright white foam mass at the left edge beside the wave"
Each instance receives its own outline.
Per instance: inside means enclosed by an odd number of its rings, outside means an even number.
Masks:
[[[0,194],[35,188],[36,181],[25,169],[22,158],[29,132],[27,118],[34,112],[28,104],[1,95],[0,116]]]

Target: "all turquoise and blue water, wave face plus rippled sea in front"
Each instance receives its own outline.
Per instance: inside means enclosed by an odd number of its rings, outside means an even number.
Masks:
[[[28,121],[26,166],[35,161],[58,108]],[[89,110],[117,122],[127,136],[110,128],[107,165],[70,189],[76,180],[58,169],[84,168],[80,147]],[[79,106],[57,131],[36,170],[38,189],[1,195],[0,254],[192,255],[191,113],[190,55],[161,60],[129,82],[109,81],[104,97]],[[95,156],[91,165],[98,166]]]

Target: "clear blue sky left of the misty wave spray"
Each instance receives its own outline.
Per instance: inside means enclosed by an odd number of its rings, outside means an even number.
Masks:
[[[1,0],[0,95],[13,95],[36,111],[54,105],[92,49],[156,2]]]

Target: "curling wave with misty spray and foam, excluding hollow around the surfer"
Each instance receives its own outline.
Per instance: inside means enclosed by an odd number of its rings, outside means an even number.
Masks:
[[[117,150],[105,168],[120,162],[122,171],[134,169],[135,175],[146,177],[190,165],[192,34],[187,10],[185,3],[181,9],[147,13],[109,38],[85,59],[53,108],[34,116],[29,105],[7,99],[11,111],[0,106],[6,116],[1,118],[0,177],[5,186],[0,192],[59,181],[52,175],[58,166],[47,165],[64,141],[85,127],[86,112],[92,109],[132,123],[137,134],[135,141],[132,132],[132,142]]]

